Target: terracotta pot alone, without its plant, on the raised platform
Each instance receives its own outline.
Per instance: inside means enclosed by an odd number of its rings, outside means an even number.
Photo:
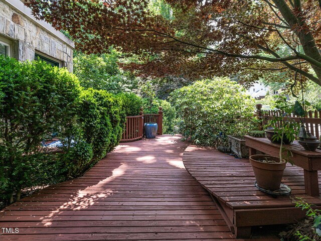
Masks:
[[[278,163],[264,163],[257,160],[273,160]],[[250,156],[257,185],[261,188],[275,191],[280,188],[283,171],[286,163],[284,159],[280,163],[280,158],[268,155],[252,155]]]

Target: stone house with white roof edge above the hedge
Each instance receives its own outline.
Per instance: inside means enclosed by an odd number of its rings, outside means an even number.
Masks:
[[[36,20],[22,2],[0,0],[0,54],[20,61],[40,59],[72,72],[73,41]]]

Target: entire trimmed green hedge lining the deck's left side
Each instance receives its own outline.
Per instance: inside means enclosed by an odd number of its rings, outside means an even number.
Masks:
[[[0,199],[83,174],[118,145],[125,116],[121,98],[64,68],[0,56]],[[53,133],[60,153],[40,145]]]

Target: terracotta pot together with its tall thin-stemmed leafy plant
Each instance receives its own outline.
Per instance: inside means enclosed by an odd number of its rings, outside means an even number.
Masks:
[[[265,190],[275,191],[280,188],[286,163],[290,161],[290,152],[286,152],[284,144],[289,144],[295,140],[299,124],[292,121],[288,116],[294,111],[294,106],[286,102],[285,97],[279,97],[276,101],[276,107],[281,111],[280,116],[275,116],[268,123],[274,126],[273,136],[271,141],[276,140],[280,143],[279,156],[269,155],[252,155],[250,156],[250,163],[252,165],[257,185]],[[301,105],[300,105],[301,106]],[[303,111],[303,107],[300,107]],[[302,114],[302,112],[300,113]],[[304,114],[304,111],[303,111]],[[278,127],[278,128],[276,128]],[[269,135],[269,132],[266,132]],[[284,152],[287,155],[284,155]]]

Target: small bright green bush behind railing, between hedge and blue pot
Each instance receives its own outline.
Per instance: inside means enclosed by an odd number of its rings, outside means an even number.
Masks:
[[[142,106],[142,99],[134,93],[119,93],[117,97],[122,102],[122,109],[126,116],[138,115]]]

